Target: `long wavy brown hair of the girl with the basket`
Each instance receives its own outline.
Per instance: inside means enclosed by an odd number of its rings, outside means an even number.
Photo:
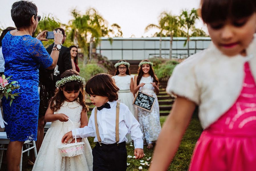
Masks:
[[[60,78],[65,78],[65,77],[72,76],[72,75],[79,76],[78,72],[76,72],[74,70],[66,70],[65,72],[63,72],[63,74],[61,74]],[[84,87],[84,85],[78,81],[70,81],[70,82],[67,82],[66,84],[64,84],[63,86],[60,86],[59,89],[56,90],[55,95],[50,100],[50,108],[53,111],[57,111],[58,109],[60,109],[60,106],[63,105],[63,103],[65,101],[65,96],[61,89],[64,89],[65,91],[79,91],[80,90],[80,93],[79,93],[76,101],[78,101],[78,103],[80,103],[80,105],[83,107],[83,110],[88,111],[89,107],[85,103],[86,96],[85,96],[83,87]],[[55,101],[55,104],[54,104],[54,101]]]

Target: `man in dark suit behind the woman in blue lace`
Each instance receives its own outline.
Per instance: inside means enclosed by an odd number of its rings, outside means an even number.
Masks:
[[[66,40],[66,33],[65,30],[63,28],[55,28],[54,30],[61,30],[62,34],[63,34],[63,39],[61,42],[61,49],[60,49],[60,54],[59,54],[59,58],[58,58],[58,70],[60,71],[60,74],[58,74],[57,76],[53,76],[53,80],[54,80],[54,85],[55,82],[60,80],[60,76],[63,72],[65,72],[66,70],[72,69],[72,63],[71,63],[71,56],[70,56],[70,50],[69,48],[63,46],[62,44],[64,44],[65,40]],[[49,54],[52,53],[52,48],[54,46],[54,43],[51,44],[48,48],[46,48],[47,52]],[[52,70],[53,73],[54,70]]]

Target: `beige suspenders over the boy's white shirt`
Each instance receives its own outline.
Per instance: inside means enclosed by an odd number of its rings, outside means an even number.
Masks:
[[[117,102],[116,104],[116,116],[115,116],[115,141],[118,145],[119,142],[119,109],[120,109],[120,103]],[[101,146],[101,139],[99,136],[99,127],[97,122],[97,107],[94,109],[94,121],[95,121],[95,128],[96,128],[96,135],[99,142],[99,145]]]

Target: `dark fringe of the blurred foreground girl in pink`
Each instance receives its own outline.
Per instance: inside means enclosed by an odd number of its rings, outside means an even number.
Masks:
[[[256,12],[255,0],[201,0],[199,13],[204,23],[240,19]]]

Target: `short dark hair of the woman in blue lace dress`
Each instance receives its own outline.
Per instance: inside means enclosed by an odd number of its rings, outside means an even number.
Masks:
[[[31,25],[31,17],[37,15],[37,7],[31,1],[17,1],[13,3],[11,9],[11,17],[17,30],[29,27]]]

